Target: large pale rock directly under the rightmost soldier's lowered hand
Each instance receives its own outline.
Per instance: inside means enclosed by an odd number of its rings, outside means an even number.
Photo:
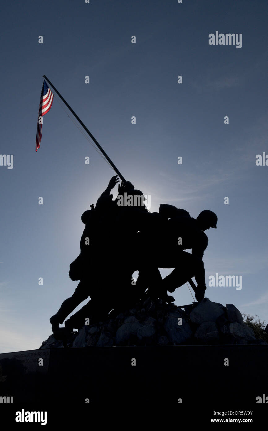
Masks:
[[[224,314],[224,310],[215,302],[211,302],[208,298],[200,301],[190,313],[191,322],[201,325],[204,322],[216,322],[220,315]]]

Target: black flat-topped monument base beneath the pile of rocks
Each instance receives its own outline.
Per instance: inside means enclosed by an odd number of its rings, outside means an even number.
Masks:
[[[267,363],[268,345],[2,353],[0,411],[10,424],[22,409],[46,410],[50,426],[58,419],[59,424],[78,424],[82,416],[105,421],[112,409],[117,419],[127,411],[135,417],[147,411],[151,419],[171,415],[178,425],[182,419],[189,425],[206,425],[211,419],[228,418],[252,419],[256,425],[268,412]],[[257,397],[262,402],[257,403]]]

